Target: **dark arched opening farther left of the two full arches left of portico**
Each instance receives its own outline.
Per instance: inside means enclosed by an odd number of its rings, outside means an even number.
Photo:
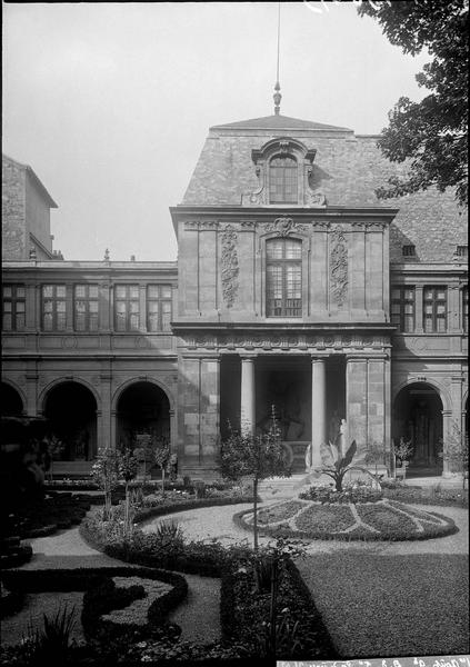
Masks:
[[[97,401],[79,382],[61,382],[46,399],[50,436],[60,441],[54,460],[90,461],[97,456]]]

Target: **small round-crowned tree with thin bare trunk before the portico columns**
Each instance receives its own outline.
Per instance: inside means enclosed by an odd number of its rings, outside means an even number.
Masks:
[[[240,480],[250,477],[253,481],[253,536],[254,551],[258,551],[258,484],[267,477],[290,477],[284,449],[272,408],[271,426],[268,432],[252,434],[247,427],[233,430],[229,424],[229,437],[220,448],[220,471],[222,477]]]

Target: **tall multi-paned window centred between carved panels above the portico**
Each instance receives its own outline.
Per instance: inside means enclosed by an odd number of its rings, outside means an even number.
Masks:
[[[302,241],[266,242],[266,290],[268,317],[302,316]]]

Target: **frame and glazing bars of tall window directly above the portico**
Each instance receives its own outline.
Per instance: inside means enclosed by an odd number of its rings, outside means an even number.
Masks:
[[[274,242],[282,242],[282,256],[279,258],[273,258],[269,256],[270,245]],[[298,247],[299,252],[297,257],[290,258],[287,257],[287,243],[293,242],[296,247]],[[274,237],[266,239],[264,241],[264,299],[266,299],[266,317],[267,318],[283,318],[283,319],[299,319],[303,316],[303,241],[302,239],[292,238],[292,237]],[[281,269],[281,297],[280,299],[276,299],[271,296],[272,288],[272,278],[270,278],[270,267],[278,266]],[[299,271],[298,285],[300,298],[290,298],[288,296],[289,292],[289,277],[288,269],[289,267],[293,267]],[[297,280],[296,280],[297,282]],[[271,293],[270,293],[271,292]],[[272,301],[280,300],[281,306],[276,307],[272,305]],[[289,306],[288,301],[298,301],[297,306]],[[274,312],[280,308],[281,312]],[[297,310],[296,313],[292,310]]]

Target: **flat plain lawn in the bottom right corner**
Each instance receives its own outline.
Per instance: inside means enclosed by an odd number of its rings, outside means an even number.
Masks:
[[[297,566],[343,658],[469,651],[468,556],[354,549]]]

